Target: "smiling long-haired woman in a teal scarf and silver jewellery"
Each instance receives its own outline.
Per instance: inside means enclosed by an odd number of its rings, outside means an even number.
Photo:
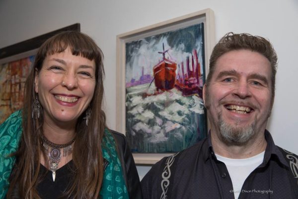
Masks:
[[[0,125],[1,199],[142,198],[126,139],[105,123],[102,58],[76,31],[40,47],[23,110]]]

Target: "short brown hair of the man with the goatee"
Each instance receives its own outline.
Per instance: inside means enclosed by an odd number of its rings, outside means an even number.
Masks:
[[[272,100],[275,95],[275,75],[277,70],[277,55],[272,44],[265,38],[248,33],[234,34],[229,32],[215,45],[211,57],[206,86],[210,84],[219,57],[232,50],[247,49],[265,56],[271,65]],[[273,101],[272,101],[273,102]]]

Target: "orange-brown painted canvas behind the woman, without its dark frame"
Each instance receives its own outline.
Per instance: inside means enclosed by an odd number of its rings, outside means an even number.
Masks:
[[[34,55],[0,65],[0,123],[22,108],[24,86]]]

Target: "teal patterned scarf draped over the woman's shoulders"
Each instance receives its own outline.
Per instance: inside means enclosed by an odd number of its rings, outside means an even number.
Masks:
[[[0,124],[0,199],[5,199],[8,190],[8,178],[14,164],[14,157],[7,157],[16,152],[22,133],[22,112],[12,113]],[[118,158],[115,139],[105,129],[102,138],[103,158],[109,162],[103,175],[100,199],[129,199],[125,185],[121,162]]]

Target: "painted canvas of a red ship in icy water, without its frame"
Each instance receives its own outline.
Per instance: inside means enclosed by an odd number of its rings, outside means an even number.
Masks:
[[[134,153],[173,153],[206,137],[204,46],[204,23],[125,44],[125,126]]]

